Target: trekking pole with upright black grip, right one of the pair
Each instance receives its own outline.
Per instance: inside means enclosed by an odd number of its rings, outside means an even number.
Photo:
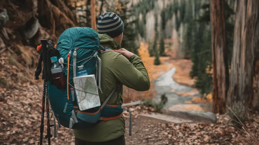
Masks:
[[[48,77],[47,77],[47,43],[48,40],[47,39],[42,39],[41,41],[41,51],[42,51],[42,60],[43,60],[43,71],[44,71],[44,83],[43,83],[43,93],[44,93],[44,99],[42,98],[42,104],[43,101],[45,102],[45,98],[46,98],[46,113],[47,113],[47,135],[45,136],[45,139],[48,139],[48,145],[51,145],[51,140],[50,138],[52,137],[51,132],[50,132],[50,123],[49,123],[49,99],[48,99]],[[45,107],[45,106],[44,106]],[[44,109],[43,110],[43,115],[44,115]],[[44,121],[44,119],[42,119],[42,121]],[[44,126],[44,125],[42,125]],[[42,129],[43,132],[43,129]],[[41,133],[42,135],[42,133]],[[41,140],[42,140],[42,136],[41,136]]]

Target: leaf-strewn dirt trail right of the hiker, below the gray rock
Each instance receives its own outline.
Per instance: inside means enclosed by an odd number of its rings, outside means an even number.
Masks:
[[[228,124],[227,116],[218,116],[218,120],[217,124],[174,124],[138,116],[133,118],[132,136],[128,136],[126,128],[126,145],[229,145],[236,144],[244,137],[244,132]]]

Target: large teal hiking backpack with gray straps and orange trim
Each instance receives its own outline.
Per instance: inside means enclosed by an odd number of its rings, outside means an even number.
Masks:
[[[107,96],[101,106],[88,110],[80,111],[76,100],[73,77],[76,77],[76,67],[84,66],[88,75],[95,75],[98,89],[100,88],[100,76],[102,61],[98,57],[101,53],[112,51],[100,46],[98,34],[95,30],[88,27],[73,27],[65,30],[56,45],[60,53],[60,58],[64,59],[63,75],[67,78],[66,89],[58,89],[55,85],[48,82],[49,103],[54,112],[54,119],[60,125],[69,128],[69,130],[82,130],[92,127],[101,121],[120,118],[123,111],[129,110],[120,105],[108,105],[114,91],[117,91],[121,85]],[[69,71],[69,72],[68,72]],[[54,122],[55,125],[55,122]],[[55,130],[55,129],[54,129]],[[56,134],[54,132],[54,134]],[[131,114],[130,114],[130,135],[131,135]]]

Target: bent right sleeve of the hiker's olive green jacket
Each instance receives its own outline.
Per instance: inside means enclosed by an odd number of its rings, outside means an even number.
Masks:
[[[130,59],[122,54],[117,55],[110,70],[116,79],[128,88],[136,91],[147,91],[150,88],[147,70],[135,54]]]

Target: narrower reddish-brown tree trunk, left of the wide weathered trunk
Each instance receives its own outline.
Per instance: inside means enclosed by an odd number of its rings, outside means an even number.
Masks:
[[[213,112],[224,114],[228,90],[228,59],[224,0],[210,1],[211,48],[213,63]]]

